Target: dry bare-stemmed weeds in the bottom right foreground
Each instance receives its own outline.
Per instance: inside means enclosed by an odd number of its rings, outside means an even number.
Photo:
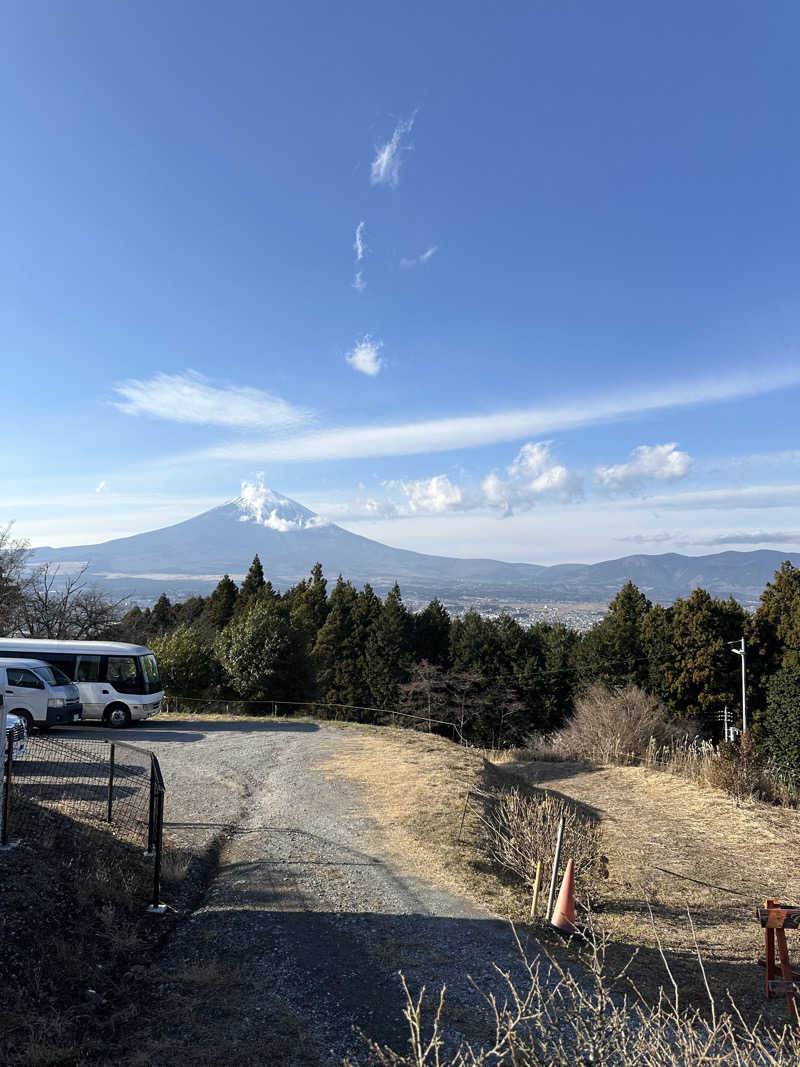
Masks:
[[[507,989],[502,1001],[476,988],[476,1007],[482,1006],[493,1031],[485,1045],[462,1042],[453,1048],[443,1022],[445,990],[428,1018],[425,988],[415,998],[403,978],[410,1051],[397,1052],[366,1038],[364,1056],[349,1058],[347,1067],[796,1067],[800,1062],[800,1038],[794,1029],[748,1025],[734,1004],[719,1012],[713,999],[707,1018],[683,1010],[663,957],[673,993],[647,1005],[635,989],[628,996],[614,991],[624,974],[606,973],[602,936],[590,937],[581,971],[563,966],[546,949],[533,960],[522,945],[519,952],[525,980],[515,983],[499,971]],[[702,971],[700,955],[698,960]]]

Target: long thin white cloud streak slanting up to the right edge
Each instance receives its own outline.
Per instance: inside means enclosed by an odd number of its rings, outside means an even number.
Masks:
[[[388,426],[348,426],[295,434],[281,440],[234,441],[213,445],[202,451],[178,457],[187,460],[209,459],[247,463],[302,462],[306,460],[362,459],[381,456],[415,456],[475,448],[540,436],[554,431],[577,429],[598,423],[617,421],[636,415],[724,403],[748,396],[758,396],[800,384],[800,366],[763,370],[757,376],[718,376],[713,380],[654,385],[650,389],[592,396],[563,403],[543,403],[510,412],[486,415],[448,416],[419,423]],[[176,458],[170,460],[174,463]]]

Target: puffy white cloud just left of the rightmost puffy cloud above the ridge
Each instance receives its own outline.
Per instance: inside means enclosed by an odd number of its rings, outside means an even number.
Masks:
[[[556,462],[549,441],[523,445],[507,473],[508,478],[501,478],[492,472],[481,484],[486,504],[506,514],[527,510],[543,498],[566,504],[583,496],[583,479]]]

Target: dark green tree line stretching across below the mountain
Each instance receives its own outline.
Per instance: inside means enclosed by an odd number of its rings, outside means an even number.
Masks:
[[[240,586],[225,575],[208,596],[162,595],[123,615],[82,573],[30,570],[26,558],[27,546],[0,529],[0,633],[147,644],[174,696],[316,701],[362,719],[399,710],[480,745],[559,729],[594,683],[638,686],[672,718],[719,736],[724,705],[732,718],[740,708],[731,643],[743,636],[755,732],[800,768],[800,571],[788,561],[753,612],[704,589],[663,607],[628,582],[580,634],[508,615],[451,617],[437,599],[415,612],[397,585],[381,598],[340,575],[329,589],[319,563],[278,591],[258,556]]]

